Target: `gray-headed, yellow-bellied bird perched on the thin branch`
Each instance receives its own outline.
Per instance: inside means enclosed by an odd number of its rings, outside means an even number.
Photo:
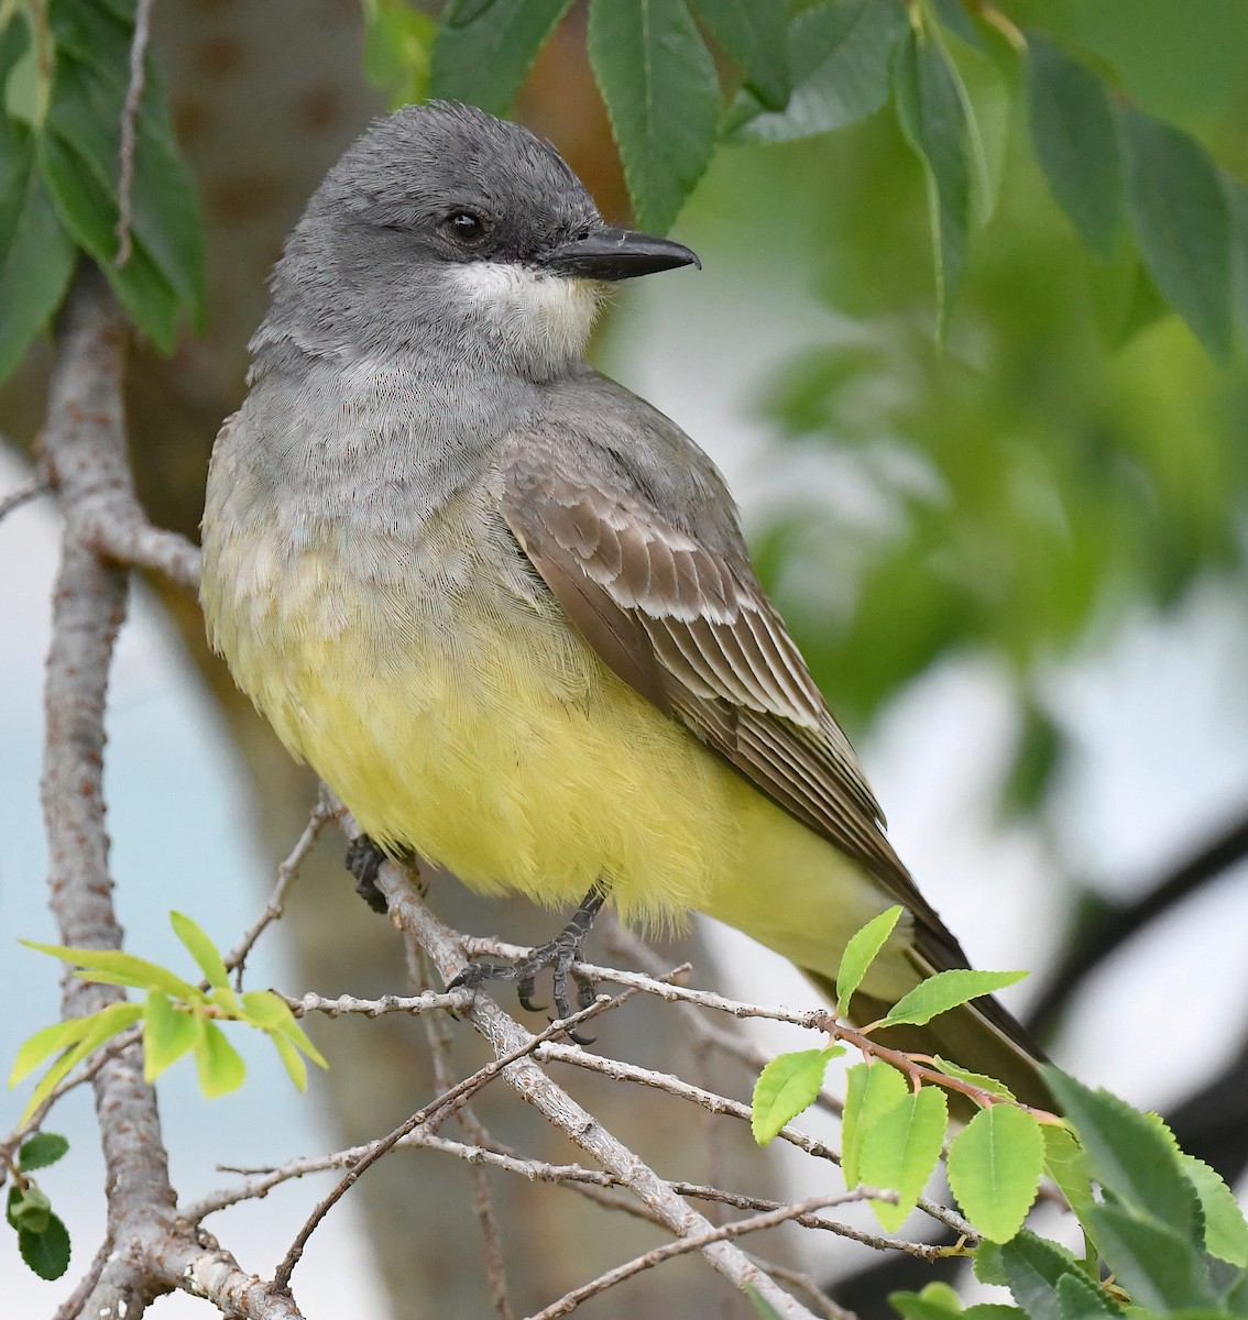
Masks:
[[[902,915],[848,1016],[967,956],[750,562],[711,458],[585,362],[610,289],[700,265],[607,224],[556,148],[474,107],[375,120],[289,235],[213,447],[209,639],[376,855],[412,853],[568,927],[703,912],[835,1001],[847,941]],[[358,858],[357,858],[358,859]],[[1049,1106],[992,998],[881,1040]]]

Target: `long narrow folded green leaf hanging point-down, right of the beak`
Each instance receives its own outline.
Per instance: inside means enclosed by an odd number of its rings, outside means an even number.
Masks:
[[[967,117],[939,46],[914,28],[893,61],[893,94],[902,135],[923,165],[943,333],[957,296],[971,223]]]

